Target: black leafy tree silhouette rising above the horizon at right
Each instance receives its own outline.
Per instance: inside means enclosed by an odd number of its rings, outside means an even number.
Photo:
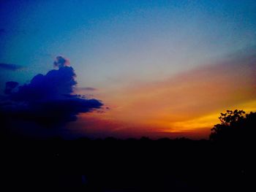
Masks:
[[[227,110],[219,117],[221,123],[211,128],[210,140],[222,142],[252,141],[255,137],[256,112]]]

